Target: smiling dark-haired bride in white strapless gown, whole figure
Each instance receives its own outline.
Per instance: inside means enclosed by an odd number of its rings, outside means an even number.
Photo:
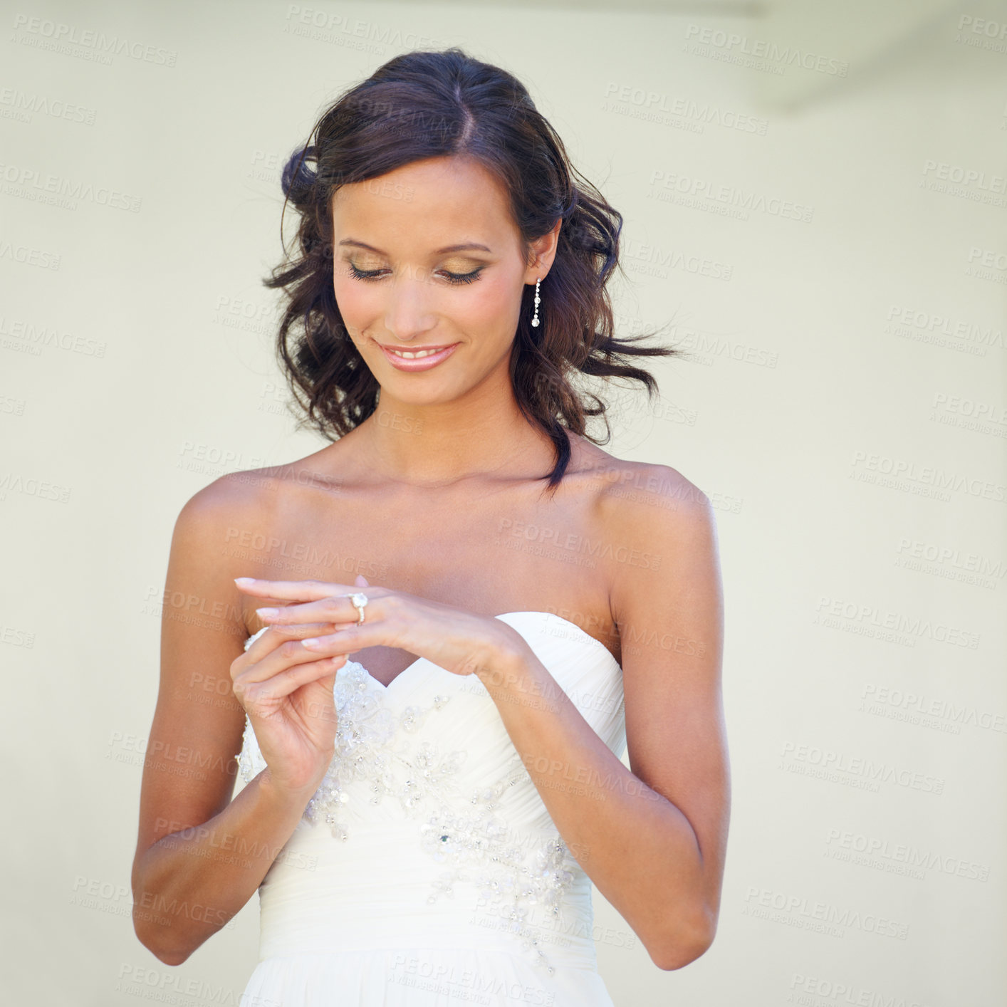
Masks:
[[[611,1004],[591,882],[678,969],[727,839],[710,502],[576,384],[676,350],[612,336],[621,218],[502,69],[398,56],[312,135],[266,282],[332,443],[178,517],[136,932],[180,964],[258,889],[249,1007]]]

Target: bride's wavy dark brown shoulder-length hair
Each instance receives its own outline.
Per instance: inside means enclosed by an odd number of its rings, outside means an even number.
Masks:
[[[547,487],[553,490],[570,461],[564,428],[597,444],[611,437],[605,404],[570,379],[638,381],[650,401],[657,382],[629,359],[681,350],[635,345],[653,333],[624,339],[612,334],[605,286],[618,265],[622,215],[570,165],[563,142],[524,85],[498,66],[457,47],[406,52],[344,92],[321,115],[308,143],[283,170],[284,210],[288,201],[293,203],[300,222],[296,257],[284,246],[284,263],[263,280],[267,287],[282,287],[287,298],[277,354],[305,414],[301,426],[313,425],[336,440],[375,411],[380,386],[349,338],[332,290],[332,193],[413,161],[443,156],[470,158],[500,180],[528,263],[530,243],[563,221],[552,268],[540,288],[540,324],[530,324],[535,287],[526,285],[511,355],[518,405],[556,446]],[[281,214],[281,235],[282,220]],[[585,419],[594,416],[604,419],[604,438],[585,433]]]

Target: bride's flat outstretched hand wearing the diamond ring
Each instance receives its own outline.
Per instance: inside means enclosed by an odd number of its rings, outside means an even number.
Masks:
[[[357,576],[355,584],[320,580],[261,580],[236,578],[246,594],[285,601],[276,614],[259,609],[268,625],[323,622],[333,632],[300,640],[311,654],[334,657],[366,646],[397,646],[454,675],[498,675],[510,672],[516,659],[528,654],[525,638],[492,615],[478,615],[442,605],[405,591],[377,587]],[[348,597],[367,595],[364,622]],[[311,643],[310,640],[317,640]]]

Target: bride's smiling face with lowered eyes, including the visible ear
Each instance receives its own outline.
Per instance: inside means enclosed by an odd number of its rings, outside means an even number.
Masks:
[[[448,402],[510,382],[522,294],[548,273],[558,226],[528,266],[507,190],[450,157],[343,185],[332,224],[335,300],[383,400]]]

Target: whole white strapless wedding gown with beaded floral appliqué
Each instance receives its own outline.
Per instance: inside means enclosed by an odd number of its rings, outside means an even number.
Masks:
[[[496,617],[621,758],[608,650],[551,612]],[[259,887],[241,1007],[613,1007],[591,881],[478,678],[420,658],[386,687],[347,661],[333,692],[335,753]],[[247,718],[238,763],[246,782],[265,768]],[[551,778],[584,783],[576,767]]]

